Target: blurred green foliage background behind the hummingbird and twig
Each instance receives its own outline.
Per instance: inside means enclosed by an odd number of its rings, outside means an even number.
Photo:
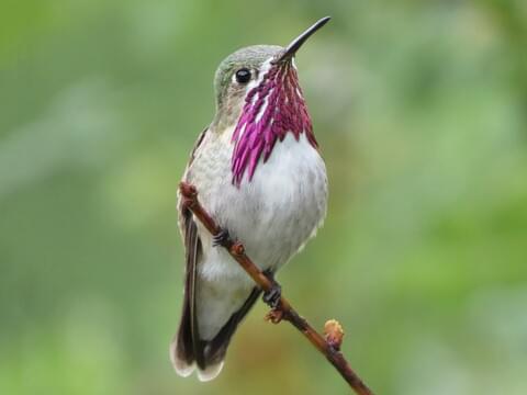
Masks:
[[[326,14],[328,217],[284,293],[378,394],[527,393],[527,2],[3,0],[0,394],[349,393],[261,303],[216,381],[168,360],[214,70]]]

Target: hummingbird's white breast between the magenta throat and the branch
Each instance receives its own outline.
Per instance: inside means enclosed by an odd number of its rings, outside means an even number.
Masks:
[[[225,142],[217,139],[199,153],[189,173],[191,182],[217,223],[244,242],[262,269],[278,268],[324,218],[327,200],[324,161],[304,135],[296,140],[289,134],[277,143],[267,162],[258,163],[250,182],[244,178],[235,187],[232,145],[222,143]],[[214,176],[204,177],[206,171]]]

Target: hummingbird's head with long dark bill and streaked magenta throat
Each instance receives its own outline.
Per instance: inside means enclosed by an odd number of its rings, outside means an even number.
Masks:
[[[287,133],[296,139],[305,133],[317,146],[313,135],[293,58],[305,41],[329,21],[323,18],[285,48],[255,45],[242,48],[225,58],[216,70],[215,128],[235,127],[232,170],[233,182],[240,184],[245,170],[253,178],[260,159],[266,161],[277,140]]]

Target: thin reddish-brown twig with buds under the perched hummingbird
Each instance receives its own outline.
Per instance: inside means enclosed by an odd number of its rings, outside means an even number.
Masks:
[[[222,232],[222,228],[215,223],[215,221],[209,215],[203,206],[198,201],[198,191],[195,187],[181,182],[179,185],[182,203],[190,210],[194,216],[203,224],[203,226],[213,235],[216,236]],[[262,289],[264,291],[271,291],[279,284],[269,279],[245,253],[244,246],[240,242],[234,242],[227,240],[223,245],[228,253],[242,266],[242,268],[250,275],[250,278]],[[291,306],[288,300],[283,296],[280,297],[278,305],[271,309],[267,318],[273,324],[278,324],[284,319],[296,329],[299,329],[310,342],[326,357],[326,359],[335,366],[340,375],[346,380],[349,386],[358,395],[373,395],[371,390],[360,380],[360,377],[351,370],[348,362],[339,351],[341,337],[344,331],[338,323],[330,320],[326,323],[326,327],[335,328],[337,335],[328,335],[326,339],[319,335],[306,320],[301,317],[296,311]],[[335,331],[334,329],[332,329]],[[338,334],[339,332],[339,334]],[[339,340],[335,340],[339,339]]]

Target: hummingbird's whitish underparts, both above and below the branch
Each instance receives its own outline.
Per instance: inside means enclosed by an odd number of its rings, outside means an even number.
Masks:
[[[186,178],[220,226],[240,240],[262,270],[278,270],[325,217],[327,179],[324,161],[305,135],[290,133],[278,142],[266,163],[259,163],[250,182],[232,183],[231,133],[209,133],[195,153]],[[255,286],[224,248],[212,247],[212,237],[197,221],[202,242],[198,262],[197,311],[200,336],[212,339],[238,311]]]

